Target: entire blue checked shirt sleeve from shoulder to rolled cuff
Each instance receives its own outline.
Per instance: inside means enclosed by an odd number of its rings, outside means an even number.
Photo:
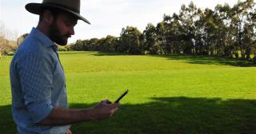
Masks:
[[[30,52],[17,65],[23,99],[31,120],[38,123],[50,115],[54,60],[40,51]]]

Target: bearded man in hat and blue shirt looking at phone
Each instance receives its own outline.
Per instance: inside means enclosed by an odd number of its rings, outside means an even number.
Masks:
[[[43,0],[26,10],[39,22],[18,47],[10,64],[12,111],[18,133],[71,133],[70,124],[111,116],[118,104],[101,101],[92,108],[69,109],[66,80],[56,45],[66,45],[80,14],[80,0]]]

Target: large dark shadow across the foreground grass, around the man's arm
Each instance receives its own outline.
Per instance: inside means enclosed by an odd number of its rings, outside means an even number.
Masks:
[[[73,124],[83,133],[256,133],[256,100],[220,98],[154,97],[146,104],[122,104],[108,120]],[[94,104],[70,104],[89,108]],[[0,106],[0,131],[14,133],[10,105]]]

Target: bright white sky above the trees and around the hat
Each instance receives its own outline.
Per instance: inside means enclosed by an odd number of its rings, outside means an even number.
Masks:
[[[238,0],[192,0],[197,7],[214,10],[217,4],[228,3],[234,6]],[[30,14],[25,5],[42,0],[0,0],[0,25],[14,34],[15,38],[30,33],[38,24],[38,15]],[[81,15],[91,25],[78,21],[75,34],[69,43],[78,39],[93,37],[118,37],[123,27],[134,26],[143,31],[148,23],[157,25],[162,22],[163,14],[179,13],[182,4],[189,5],[191,0],[81,0]]]

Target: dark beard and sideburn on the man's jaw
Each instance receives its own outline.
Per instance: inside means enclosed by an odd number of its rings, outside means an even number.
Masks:
[[[57,43],[58,45],[66,45],[67,44],[67,38],[71,37],[69,33],[66,33],[65,35],[62,35],[60,30],[58,29],[58,26],[56,22],[54,21],[49,28],[49,37],[52,41]]]

